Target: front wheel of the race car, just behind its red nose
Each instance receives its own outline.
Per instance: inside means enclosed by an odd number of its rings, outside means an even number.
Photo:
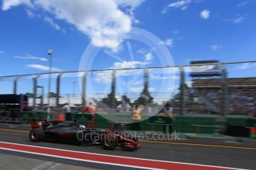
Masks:
[[[113,133],[105,134],[102,137],[103,149],[113,150],[116,148],[118,139]]]

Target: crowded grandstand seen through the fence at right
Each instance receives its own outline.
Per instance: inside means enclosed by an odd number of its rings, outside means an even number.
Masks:
[[[256,78],[226,78],[227,106],[229,114],[247,114],[256,102]],[[220,106],[221,79],[197,79],[192,88]]]

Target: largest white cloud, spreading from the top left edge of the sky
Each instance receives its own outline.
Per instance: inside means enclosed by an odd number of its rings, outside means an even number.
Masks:
[[[96,47],[108,47],[118,50],[123,38],[131,31],[131,22],[135,21],[133,10],[142,4],[142,0],[4,0],[2,10],[9,10],[20,4],[34,9],[43,9],[54,18],[73,24],[77,30],[91,38]],[[119,7],[128,13],[119,10]],[[56,24],[48,20],[53,27]]]

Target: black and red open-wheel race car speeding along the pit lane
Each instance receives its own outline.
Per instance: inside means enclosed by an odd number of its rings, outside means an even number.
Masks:
[[[32,129],[29,137],[33,142],[41,140],[60,141],[76,143],[100,143],[103,149],[115,149],[120,146],[124,149],[135,150],[140,147],[140,143],[130,135],[122,132],[110,132],[100,129],[88,129],[84,125],[75,121],[60,120],[38,120],[30,123]]]

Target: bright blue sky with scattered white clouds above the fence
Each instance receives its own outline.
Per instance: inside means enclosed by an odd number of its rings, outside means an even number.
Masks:
[[[90,43],[102,51],[87,56],[93,60],[90,67],[84,64],[88,69],[163,65],[151,47],[125,39],[131,27],[160,38],[174,64],[254,60],[255,9],[255,0],[2,0],[0,75],[47,72],[48,49],[53,49],[54,70],[77,70]],[[255,65],[236,66],[229,75],[253,76],[248,67]],[[141,86],[134,92],[136,87]]]

